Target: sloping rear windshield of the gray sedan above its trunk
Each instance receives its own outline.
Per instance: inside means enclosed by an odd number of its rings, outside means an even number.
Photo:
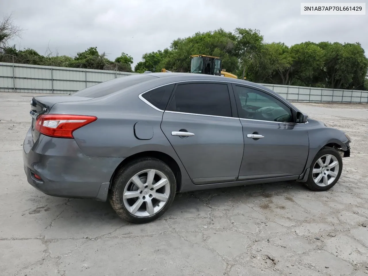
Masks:
[[[144,74],[129,75],[126,77],[120,77],[112,79],[110,81],[101,82],[100,84],[89,86],[87,88],[74,92],[71,95],[86,98],[99,98],[127,88],[129,86],[149,81],[154,78],[156,77]]]

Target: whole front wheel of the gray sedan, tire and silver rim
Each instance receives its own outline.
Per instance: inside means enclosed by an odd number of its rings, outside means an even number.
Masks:
[[[328,156],[330,156],[330,161],[329,166],[326,166],[326,161],[328,162],[326,158],[328,158]],[[323,166],[319,160],[322,161]],[[337,162],[337,166],[331,167],[335,162]],[[319,168],[321,168],[321,172],[318,172]],[[313,169],[315,169],[315,173],[313,173]],[[304,185],[312,191],[327,191],[337,183],[341,176],[342,169],[343,160],[339,152],[334,148],[323,148],[313,159],[312,164],[309,167],[307,182],[305,182]],[[320,176],[322,177],[319,178]],[[318,184],[315,180],[319,180]]]

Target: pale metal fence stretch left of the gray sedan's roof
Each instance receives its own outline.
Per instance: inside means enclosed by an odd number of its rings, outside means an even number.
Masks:
[[[131,74],[0,62],[0,92],[67,94]]]

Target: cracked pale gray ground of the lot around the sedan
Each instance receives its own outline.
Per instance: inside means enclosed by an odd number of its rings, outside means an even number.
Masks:
[[[368,274],[368,105],[296,104],[353,139],[330,191],[290,182],[179,194],[162,219],[133,225],[108,203],[26,182],[30,96],[0,93],[0,275]]]

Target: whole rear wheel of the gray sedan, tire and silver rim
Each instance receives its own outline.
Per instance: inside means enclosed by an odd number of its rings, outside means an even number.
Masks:
[[[139,224],[162,216],[175,194],[176,179],[170,167],[156,158],[140,158],[121,168],[114,177],[109,201],[118,216]]]

